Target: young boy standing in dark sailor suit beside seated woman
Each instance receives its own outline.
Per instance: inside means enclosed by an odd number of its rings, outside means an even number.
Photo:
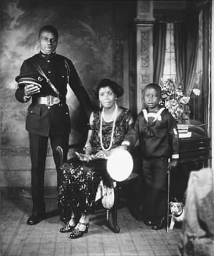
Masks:
[[[167,169],[176,167],[179,159],[179,137],[176,120],[159,105],[161,87],[148,84],[143,97],[145,108],[138,114],[134,129],[125,136],[122,146],[132,147],[138,138],[140,140],[142,172],[147,186],[145,223],[158,230],[163,228],[166,215]]]

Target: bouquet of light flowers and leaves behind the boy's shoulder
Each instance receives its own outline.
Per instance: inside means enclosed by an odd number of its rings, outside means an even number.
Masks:
[[[167,79],[161,80],[160,86],[161,104],[168,109],[178,123],[188,123],[190,97],[184,95],[181,85],[176,85],[174,79]]]

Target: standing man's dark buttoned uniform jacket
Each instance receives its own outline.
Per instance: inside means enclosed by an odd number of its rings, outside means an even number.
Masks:
[[[69,72],[67,72],[65,60],[69,66]],[[38,71],[34,66],[34,61],[40,65],[47,78],[50,79],[54,87],[59,91],[61,102],[60,104],[52,105],[51,107],[37,103],[38,97],[45,97],[47,95],[57,97],[56,92],[54,92],[48,85],[47,88],[43,88],[41,92],[32,95],[32,103],[28,107],[26,129],[30,133],[41,136],[49,136],[50,134],[58,136],[69,133],[70,115],[69,108],[66,104],[68,82],[88,117],[90,115],[90,111],[92,111],[90,98],[87,95],[85,88],[82,86],[76,69],[74,68],[73,63],[64,56],[57,55],[56,53],[53,53],[52,55],[45,55],[40,52],[37,55],[24,60],[20,69],[20,75],[32,72],[37,73]],[[67,75],[69,75],[69,78]],[[21,103],[30,100],[24,100],[23,87],[17,89],[15,97]]]

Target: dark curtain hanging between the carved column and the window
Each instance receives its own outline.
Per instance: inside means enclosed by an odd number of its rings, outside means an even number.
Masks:
[[[153,28],[153,63],[154,63],[154,75],[153,81],[157,84],[160,82],[160,78],[163,75],[164,69],[164,56],[166,50],[166,23],[155,23]]]

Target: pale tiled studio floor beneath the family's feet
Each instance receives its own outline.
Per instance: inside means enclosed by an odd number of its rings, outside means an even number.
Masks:
[[[47,210],[56,206],[56,200],[47,199]],[[89,233],[79,239],[70,239],[69,233],[60,233],[59,216],[49,217],[35,226],[25,222],[31,211],[31,200],[1,201],[0,247],[1,256],[72,255],[72,256],[168,256],[177,255],[180,229],[167,233],[153,231],[132,217],[127,207],[118,210],[120,233],[106,228],[105,216],[92,215]]]

